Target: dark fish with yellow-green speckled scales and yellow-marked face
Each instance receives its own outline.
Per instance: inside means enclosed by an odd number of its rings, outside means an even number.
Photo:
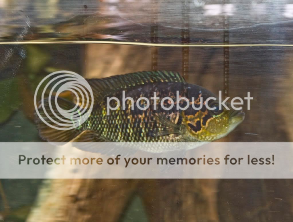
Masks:
[[[51,128],[36,116],[39,135],[43,140],[212,142],[234,130],[245,116],[242,110],[219,109],[219,99],[216,99],[215,94],[204,87],[187,83],[178,72],[142,71],[86,81],[93,91],[91,114],[84,123],[69,130]],[[113,97],[117,100],[110,100]],[[186,99],[180,99],[183,97]],[[209,97],[216,100],[208,101]],[[132,98],[133,101],[126,98]],[[42,102],[45,108],[49,108],[51,104],[55,113],[58,111],[53,101],[57,101],[62,109],[76,107],[76,102],[61,97],[56,100],[52,97],[51,101],[47,98]],[[200,107],[200,102],[208,103],[213,110],[207,109],[205,105]],[[113,110],[109,109],[109,105]],[[178,109],[179,106],[184,109]],[[45,121],[55,124],[47,118],[41,106],[38,111]],[[54,119],[50,113],[52,110],[47,109],[47,112]]]

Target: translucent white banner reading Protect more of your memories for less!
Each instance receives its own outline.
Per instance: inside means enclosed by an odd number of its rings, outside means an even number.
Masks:
[[[291,179],[292,159],[291,142],[1,142],[0,178]]]

